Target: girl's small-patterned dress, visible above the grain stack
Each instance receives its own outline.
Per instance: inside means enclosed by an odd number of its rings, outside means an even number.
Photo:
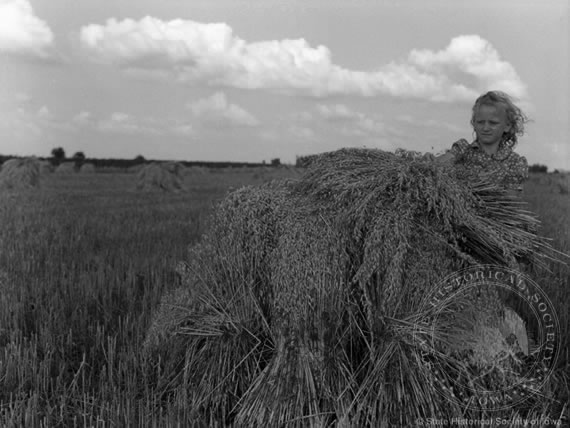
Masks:
[[[505,189],[521,191],[522,183],[528,179],[526,158],[503,141],[494,155],[487,154],[477,141],[468,143],[465,139],[453,143],[450,152],[455,156],[455,164],[464,166],[467,173],[489,178]]]

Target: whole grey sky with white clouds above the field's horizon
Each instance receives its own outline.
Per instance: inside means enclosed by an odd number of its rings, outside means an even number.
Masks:
[[[293,163],[442,153],[475,99],[570,170],[567,0],[0,0],[0,154]]]

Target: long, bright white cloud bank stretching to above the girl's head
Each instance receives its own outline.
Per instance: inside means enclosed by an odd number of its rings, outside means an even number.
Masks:
[[[477,35],[455,37],[439,51],[413,50],[404,61],[372,71],[334,64],[329,48],[304,39],[247,42],[225,23],[109,19],[82,27],[80,41],[94,60],[130,73],[220,87],[432,101],[472,101],[488,89],[527,96],[514,68]]]

